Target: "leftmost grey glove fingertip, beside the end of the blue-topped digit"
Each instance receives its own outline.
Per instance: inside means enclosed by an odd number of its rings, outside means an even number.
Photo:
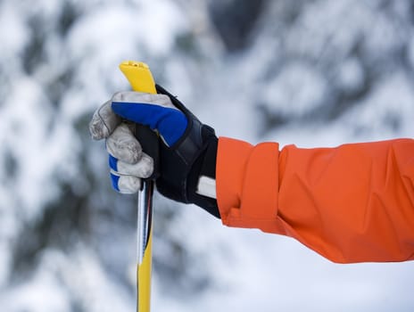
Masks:
[[[112,134],[121,119],[111,108],[111,101],[99,107],[89,122],[89,133],[95,140],[101,140]]]

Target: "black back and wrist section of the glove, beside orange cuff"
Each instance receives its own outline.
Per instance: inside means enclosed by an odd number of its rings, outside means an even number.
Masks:
[[[156,179],[158,191],[164,196],[185,203],[195,203],[219,218],[216,199],[196,193],[199,177],[215,179],[218,138],[214,129],[203,125],[186,109],[177,97],[156,85],[159,94],[166,94],[183,111],[188,120],[185,134],[171,147],[160,144],[160,177]]]

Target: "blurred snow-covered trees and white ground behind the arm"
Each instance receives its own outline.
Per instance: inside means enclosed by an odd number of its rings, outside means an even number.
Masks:
[[[136,198],[92,112],[147,62],[218,135],[414,133],[411,0],[0,1],[0,311],[135,310]],[[335,265],[157,196],[153,311],[413,311],[414,263]]]

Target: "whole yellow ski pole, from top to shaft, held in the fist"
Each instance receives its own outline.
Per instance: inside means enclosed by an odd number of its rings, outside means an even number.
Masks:
[[[120,70],[134,91],[156,94],[153,75],[144,62],[120,63]],[[136,136],[143,151],[153,157],[154,172],[158,158],[156,134],[142,125],[136,126]],[[153,181],[143,181],[137,202],[137,312],[149,312],[151,303],[151,267],[153,242]]]

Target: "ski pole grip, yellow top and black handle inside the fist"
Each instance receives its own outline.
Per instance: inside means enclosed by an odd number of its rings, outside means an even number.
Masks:
[[[155,83],[151,70],[145,62],[126,61],[120,63],[120,71],[128,79],[132,89],[137,92],[156,94]],[[136,124],[135,136],[147,155],[153,158],[153,175],[147,180],[160,176],[160,145],[159,137],[150,127]]]

